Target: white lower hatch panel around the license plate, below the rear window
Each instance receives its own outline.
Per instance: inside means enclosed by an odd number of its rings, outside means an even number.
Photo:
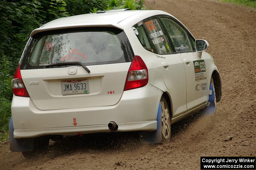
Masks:
[[[91,70],[90,73],[81,66],[75,66],[77,74],[74,75],[68,74],[69,67],[21,70],[21,74],[24,85],[39,110],[110,106],[117,104],[123,94],[130,64],[128,62],[87,66]],[[73,79],[88,79],[89,93],[62,95],[60,82]],[[39,84],[30,84],[33,81]],[[114,91],[115,94],[110,95],[108,91]],[[99,100],[101,98],[105,100]]]

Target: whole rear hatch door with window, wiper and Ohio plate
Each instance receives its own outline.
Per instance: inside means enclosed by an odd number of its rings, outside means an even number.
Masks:
[[[41,32],[30,38],[25,48],[21,76],[40,110],[110,106],[123,94],[133,56],[120,29]],[[70,62],[80,62],[90,72]],[[55,63],[62,66],[51,66]]]

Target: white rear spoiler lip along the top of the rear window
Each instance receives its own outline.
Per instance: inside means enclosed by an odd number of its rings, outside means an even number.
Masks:
[[[33,37],[36,33],[39,32],[44,32],[44,31],[51,31],[51,30],[56,30],[56,29],[66,29],[66,28],[83,28],[83,27],[115,27],[115,28],[119,28],[121,30],[123,30],[123,27],[120,26],[118,23],[78,23],[76,25],[72,24],[72,25],[65,25],[65,26],[57,26],[57,27],[52,27],[52,28],[43,28],[43,26],[41,26],[40,28],[34,29],[30,36]]]

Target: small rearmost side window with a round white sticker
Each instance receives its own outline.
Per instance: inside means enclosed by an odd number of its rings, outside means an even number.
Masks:
[[[139,42],[141,43],[141,45],[148,51],[154,52],[154,50],[152,49],[149,40],[148,40],[148,36],[146,35],[146,32],[144,30],[143,27],[143,23],[142,21],[140,21],[139,23],[135,24],[132,27],[134,33],[136,34],[137,38],[139,39]]]

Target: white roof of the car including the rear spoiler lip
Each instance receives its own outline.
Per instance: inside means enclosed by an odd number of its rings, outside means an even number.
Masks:
[[[133,15],[146,12],[150,10],[110,10],[102,13],[82,14],[71,17],[64,17],[53,20],[38,29],[31,32],[32,37],[38,32],[62,29],[62,28],[74,28],[84,26],[112,26],[123,29],[118,23]]]

